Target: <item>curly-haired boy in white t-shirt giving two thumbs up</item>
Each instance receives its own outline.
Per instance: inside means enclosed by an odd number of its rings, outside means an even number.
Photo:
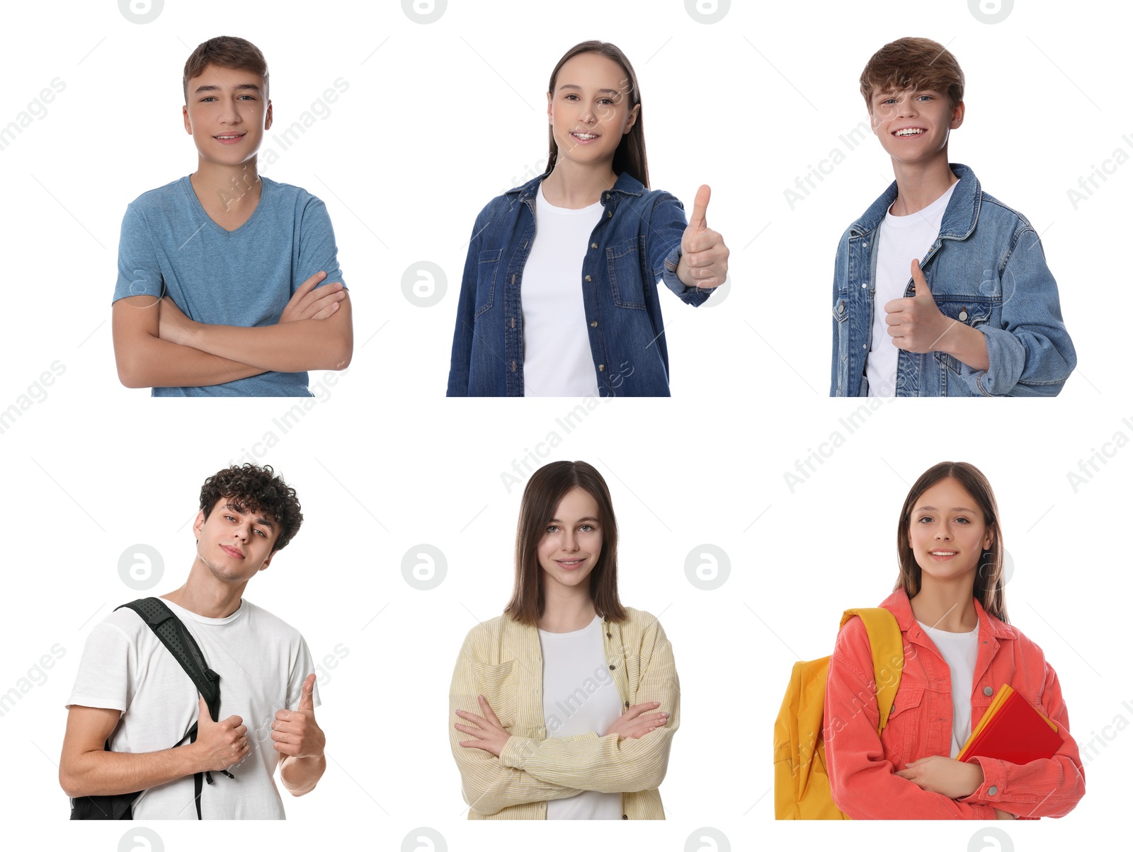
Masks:
[[[71,798],[143,790],[135,819],[283,819],[275,768],[292,795],[326,769],[315,664],[303,636],[244,598],[303,523],[291,488],[271,467],[232,466],[201,488],[196,555],[185,585],[162,596],[221,675],[213,719],[172,654],[129,608],[94,628],[68,702],[59,782]],[[170,748],[198,723],[195,742]],[[220,770],[239,765],[236,778]]]

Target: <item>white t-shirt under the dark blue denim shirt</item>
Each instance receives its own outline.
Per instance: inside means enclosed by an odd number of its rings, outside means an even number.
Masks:
[[[582,304],[582,262],[602,204],[555,207],[535,195],[535,241],[523,266],[523,395],[597,397]],[[591,284],[593,286],[593,284]]]

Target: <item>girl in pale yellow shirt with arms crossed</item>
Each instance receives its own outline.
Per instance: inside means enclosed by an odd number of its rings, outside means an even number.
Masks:
[[[449,692],[469,819],[664,819],[680,723],[673,648],[617,597],[605,480],[555,461],[523,491],[516,586],[469,631]]]

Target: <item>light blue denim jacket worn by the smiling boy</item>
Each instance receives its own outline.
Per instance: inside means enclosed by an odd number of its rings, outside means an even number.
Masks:
[[[988,369],[945,352],[897,352],[897,397],[1054,397],[1077,358],[1058,306],[1058,286],[1026,219],[980,190],[972,170],[951,164],[960,182],[940,233],[921,259],[940,312],[981,331]],[[877,245],[894,181],[846,229],[834,263],[830,395],[864,397],[871,344]],[[905,296],[915,293],[910,278]],[[884,306],[883,306],[884,307]]]

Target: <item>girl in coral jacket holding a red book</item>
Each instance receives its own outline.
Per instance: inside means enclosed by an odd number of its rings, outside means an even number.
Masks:
[[[846,623],[826,687],[834,803],[852,819],[1026,819],[1068,813],[1085,792],[1058,676],[1007,622],[1003,536],[987,478],[940,462],[913,485],[897,522],[901,571],[881,602],[901,628],[904,667],[880,736],[874,663],[860,619]],[[1054,722],[1053,758],[955,760],[1003,684]]]

